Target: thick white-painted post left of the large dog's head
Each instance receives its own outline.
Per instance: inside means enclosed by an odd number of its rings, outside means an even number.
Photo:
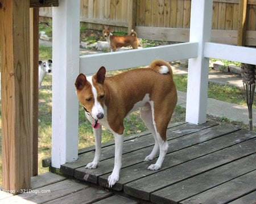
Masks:
[[[53,7],[52,167],[77,159],[80,0]]]

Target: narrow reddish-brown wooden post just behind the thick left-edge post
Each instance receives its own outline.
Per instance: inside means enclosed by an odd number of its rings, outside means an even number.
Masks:
[[[32,176],[38,175],[39,8],[30,8]]]

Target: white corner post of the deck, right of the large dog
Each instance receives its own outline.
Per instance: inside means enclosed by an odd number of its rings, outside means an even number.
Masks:
[[[189,42],[198,42],[198,57],[188,61],[186,121],[202,124],[207,116],[209,58],[204,57],[204,44],[210,41],[212,27],[210,0],[191,1]]]

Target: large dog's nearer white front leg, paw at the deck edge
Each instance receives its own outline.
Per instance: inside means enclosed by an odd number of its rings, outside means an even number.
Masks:
[[[119,172],[122,167],[122,150],[123,150],[123,135],[114,133],[115,138],[115,160],[114,169],[112,174],[108,178],[109,187],[112,186],[119,180]]]

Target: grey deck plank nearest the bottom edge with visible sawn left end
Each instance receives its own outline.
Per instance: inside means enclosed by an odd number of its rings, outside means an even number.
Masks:
[[[202,173],[151,194],[154,203],[181,202],[256,169],[256,154]],[[243,167],[243,168],[240,168]],[[237,169],[234,171],[234,169]],[[218,175],[218,176],[216,176]]]

